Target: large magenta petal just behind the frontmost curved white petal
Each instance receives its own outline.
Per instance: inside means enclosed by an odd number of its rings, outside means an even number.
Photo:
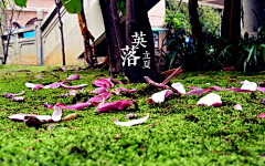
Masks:
[[[116,111],[116,110],[125,110],[129,107],[131,104],[135,104],[135,107],[138,108],[138,103],[131,100],[121,100],[110,103],[100,103],[96,107],[96,112],[108,112],[108,111]]]

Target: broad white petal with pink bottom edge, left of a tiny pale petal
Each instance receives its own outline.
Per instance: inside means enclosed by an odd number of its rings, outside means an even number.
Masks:
[[[197,104],[208,105],[208,106],[221,105],[222,104],[221,98],[222,97],[220,95],[218,95],[215,93],[210,93],[210,94],[203,96],[202,98],[200,98]]]

